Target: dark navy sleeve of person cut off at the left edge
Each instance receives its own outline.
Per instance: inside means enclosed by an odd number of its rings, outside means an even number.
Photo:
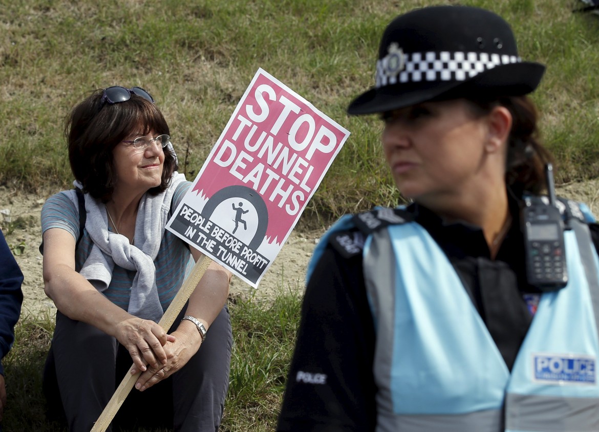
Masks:
[[[14,325],[19,321],[23,303],[23,273],[8,248],[4,233],[0,235],[0,262],[0,358],[4,358],[13,346]],[[0,374],[4,375],[2,364]]]

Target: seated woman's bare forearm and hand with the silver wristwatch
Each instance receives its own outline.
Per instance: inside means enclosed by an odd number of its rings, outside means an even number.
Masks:
[[[193,258],[197,262],[202,253],[193,247],[190,249]],[[210,334],[210,324],[225,306],[225,301],[229,295],[231,276],[230,271],[213,261],[189,297],[186,315],[193,316],[201,322],[208,330],[208,335]],[[187,364],[189,359],[198,352],[202,339],[198,328],[193,322],[184,319],[180,322],[177,330],[171,334],[175,337],[174,342],[169,342],[164,347],[167,351],[167,364],[161,365],[159,368],[148,367],[135,383],[135,388],[141,391],[150,388],[155,383],[165,379],[165,377],[171,376]],[[136,370],[131,373],[136,373]]]

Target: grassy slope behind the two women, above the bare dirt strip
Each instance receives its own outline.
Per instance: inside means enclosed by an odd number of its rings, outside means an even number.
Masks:
[[[379,151],[376,117],[349,117],[373,84],[382,29],[407,0],[2,0],[0,185],[69,187],[62,122],[90,90],[141,85],[170,122],[192,179],[258,67],[352,132],[307,212],[323,217],[400,197]],[[557,182],[599,174],[599,19],[579,0],[464,0],[506,17],[523,59],[547,64],[534,100]]]

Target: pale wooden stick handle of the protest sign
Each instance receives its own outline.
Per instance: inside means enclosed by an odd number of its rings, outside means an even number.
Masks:
[[[179,313],[183,309],[183,306],[189,300],[189,296],[192,294],[195,287],[198,285],[199,280],[202,279],[204,273],[206,272],[208,265],[212,262],[212,259],[208,258],[208,256],[203,255],[195,265],[189,276],[181,285],[179,292],[171,304],[168,306],[167,311],[164,313],[158,324],[160,327],[164,328],[164,331],[170,330],[173,322],[179,316]],[[133,367],[133,366],[131,366]],[[131,370],[131,368],[129,368]],[[129,394],[129,391],[135,385],[138,377],[140,377],[141,371],[132,375],[130,373],[126,374],[123,380],[120,382],[120,385],[117,387],[116,391],[114,391],[113,396],[108,401],[108,404],[105,406],[104,411],[98,417],[98,420],[93,425],[91,432],[105,432],[107,430],[110,422],[113,421],[114,416],[119,411],[120,406],[125,401],[125,398]]]

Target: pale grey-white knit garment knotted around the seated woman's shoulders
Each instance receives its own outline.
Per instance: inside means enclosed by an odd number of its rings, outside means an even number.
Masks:
[[[85,228],[93,246],[79,273],[103,292],[110,285],[115,264],[127,270],[137,270],[127,310],[131,315],[158,322],[164,313],[156,288],[154,260],[164,237],[173,194],[177,185],[184,181],[185,176],[175,172],[166,191],[155,197],[145,194],[141,198],[135,220],[135,245],[129,244],[125,235],[108,231],[106,206],[85,194]],[[78,182],[74,185],[81,188]]]

